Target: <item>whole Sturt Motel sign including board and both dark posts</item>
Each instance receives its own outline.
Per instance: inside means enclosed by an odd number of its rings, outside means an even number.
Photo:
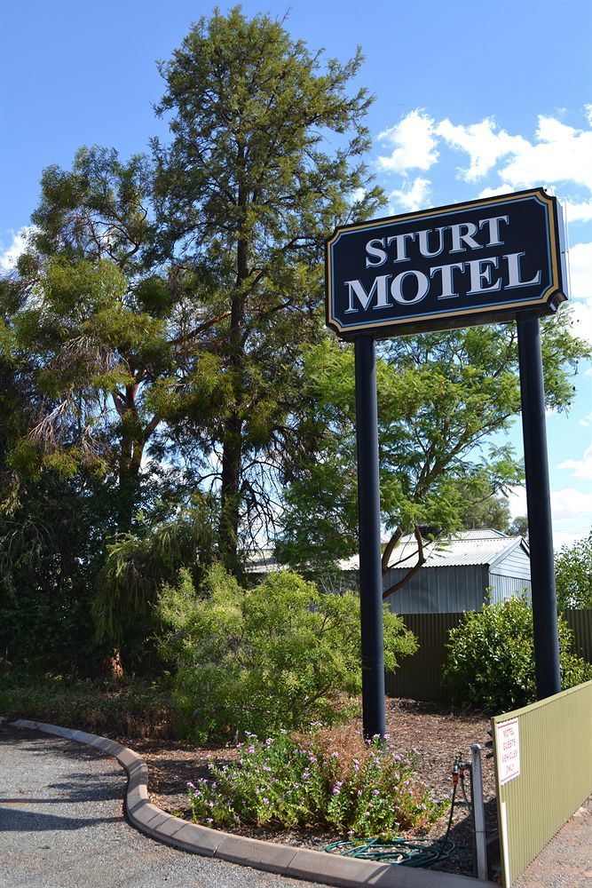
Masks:
[[[375,339],[517,320],[539,699],[560,689],[539,317],[564,294],[556,198],[542,188],[341,226],[326,243],[327,324],[355,343],[364,733],[383,734]]]

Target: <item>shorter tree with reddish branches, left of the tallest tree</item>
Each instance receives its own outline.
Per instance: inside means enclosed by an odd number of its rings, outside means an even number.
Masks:
[[[37,474],[39,463],[70,474],[100,464],[123,531],[138,508],[146,444],[162,422],[146,393],[177,369],[168,338],[172,294],[168,303],[155,297],[143,262],[149,202],[138,157],[124,164],[115,151],[82,148],[72,170],[45,170],[28,255],[0,303],[32,393],[12,442],[14,464],[27,471],[31,445]]]

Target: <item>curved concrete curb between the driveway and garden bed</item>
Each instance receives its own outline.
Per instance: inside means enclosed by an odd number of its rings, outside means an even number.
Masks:
[[[491,888],[492,882],[454,876],[452,873],[432,872],[375,863],[371,860],[351,860],[345,857],[291,847],[286,844],[261,842],[245,836],[234,836],[219,829],[198,826],[157,808],[148,797],[148,768],[133,749],[128,749],[107,737],[94,733],[74,731],[58,725],[19,719],[13,727],[28,728],[55,734],[65,740],[85,743],[117,759],[128,774],[125,810],[131,825],[182,851],[217,857],[245,867],[264,869],[280,876],[307,879],[310,882],[359,888],[377,885],[380,888]]]

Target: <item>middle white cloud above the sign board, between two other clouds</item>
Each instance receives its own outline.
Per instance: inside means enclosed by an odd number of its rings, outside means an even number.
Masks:
[[[435,132],[450,147],[460,148],[470,155],[469,169],[461,170],[461,178],[467,182],[483,178],[502,157],[516,155],[528,145],[522,136],[510,136],[505,130],[495,132],[495,122],[491,117],[485,117],[481,123],[470,123],[469,126],[443,120],[438,123]]]

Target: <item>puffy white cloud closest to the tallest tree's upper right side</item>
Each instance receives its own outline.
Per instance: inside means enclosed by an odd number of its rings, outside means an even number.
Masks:
[[[390,172],[429,170],[438,161],[438,143],[433,130],[434,121],[430,115],[422,108],[415,108],[378,136],[380,142],[393,146],[391,155],[378,157],[379,165]]]

